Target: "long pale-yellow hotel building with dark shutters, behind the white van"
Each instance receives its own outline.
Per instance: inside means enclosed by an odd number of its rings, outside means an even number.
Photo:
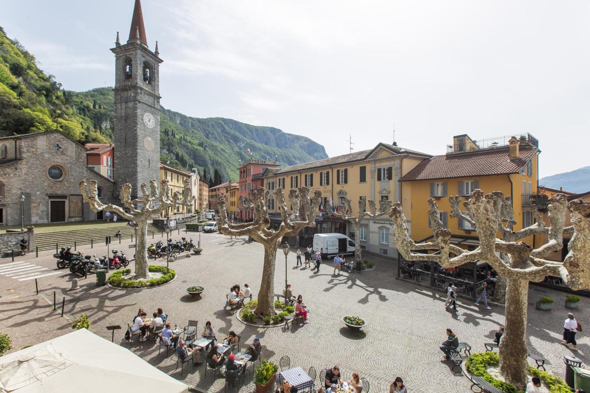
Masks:
[[[264,185],[270,191],[267,207],[274,217],[271,221],[280,222],[276,197],[277,188],[291,189],[309,186],[322,191],[321,217],[316,217],[316,228],[306,228],[301,232],[302,244],[313,240],[314,233],[339,232],[354,237],[354,229],[348,221],[327,214],[330,201],[334,205],[343,204],[348,198],[352,214],[358,214],[358,201],[361,196],[374,199],[379,207],[380,199],[402,201],[410,212],[412,192],[409,184],[399,183],[399,179],[430,155],[401,148],[397,145],[379,143],[371,150],[362,150],[342,156],[319,161],[306,162],[286,168],[269,168],[263,172]],[[286,195],[286,200],[288,198]],[[408,217],[409,220],[409,217]],[[387,215],[372,220],[365,218],[360,230],[360,244],[365,250],[382,255],[393,255],[393,232],[391,220]]]

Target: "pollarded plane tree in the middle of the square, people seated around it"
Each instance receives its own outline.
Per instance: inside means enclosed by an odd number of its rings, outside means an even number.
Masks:
[[[230,224],[227,222],[225,210],[225,197],[221,196],[217,202],[219,208],[219,232],[224,235],[243,236],[249,235],[255,241],[264,245],[264,266],[260,290],[258,291],[258,303],[254,313],[258,316],[272,316],[274,310],[274,268],[277,258],[277,248],[284,236],[297,235],[305,227],[315,227],[316,213],[322,199],[322,192],[316,189],[313,197],[309,196],[309,188],[300,187],[291,189],[289,203],[291,214],[287,210],[283,189],[278,188],[274,195],[277,198],[277,206],[281,211],[281,225],[277,230],[269,228],[270,219],[266,202],[269,192],[263,188],[248,192],[248,196],[240,196],[240,204],[246,209],[254,209],[255,220],[243,224]]]

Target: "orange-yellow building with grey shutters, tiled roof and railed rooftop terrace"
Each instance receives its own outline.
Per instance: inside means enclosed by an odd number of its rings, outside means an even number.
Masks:
[[[411,189],[411,237],[414,241],[432,236],[428,217],[428,198],[434,198],[441,212],[441,221],[453,236],[464,240],[460,246],[474,248],[479,243],[476,228],[468,222],[451,218],[449,196],[469,199],[471,191],[481,189],[484,194],[501,191],[512,195],[514,230],[534,224],[531,204],[536,201],[538,141],[530,134],[474,141],[467,135],[455,136],[446,155],[434,156],[421,162],[400,179]],[[461,210],[466,208],[461,205]],[[408,208],[404,206],[408,217]],[[473,237],[473,239],[470,239]],[[540,241],[532,236],[522,241],[530,245]],[[451,240],[452,242],[452,240]]]

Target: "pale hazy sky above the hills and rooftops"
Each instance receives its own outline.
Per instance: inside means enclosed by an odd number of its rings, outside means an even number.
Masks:
[[[168,109],[305,135],[330,156],[529,132],[540,175],[590,165],[587,1],[142,0]],[[133,0],[4,0],[0,25],[68,90],[113,86]],[[255,153],[255,152],[254,152]]]

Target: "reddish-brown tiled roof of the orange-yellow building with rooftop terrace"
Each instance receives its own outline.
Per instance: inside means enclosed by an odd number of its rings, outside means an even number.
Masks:
[[[514,161],[510,161],[507,148],[468,154],[434,156],[419,163],[399,181],[519,173],[537,151],[536,148],[521,147],[519,158]]]

